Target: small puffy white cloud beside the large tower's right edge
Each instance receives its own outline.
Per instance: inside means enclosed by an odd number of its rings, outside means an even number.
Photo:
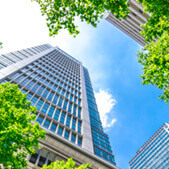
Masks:
[[[108,92],[108,90],[100,89],[98,93],[95,93],[95,97],[103,127],[112,127],[117,120],[110,119],[110,113],[112,113],[111,110],[117,101],[113,98],[112,94]]]

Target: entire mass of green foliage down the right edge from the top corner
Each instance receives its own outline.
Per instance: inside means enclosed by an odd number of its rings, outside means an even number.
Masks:
[[[150,18],[143,25],[141,34],[148,44],[138,52],[143,65],[143,84],[153,84],[163,90],[159,97],[169,99],[169,1],[138,0]]]

